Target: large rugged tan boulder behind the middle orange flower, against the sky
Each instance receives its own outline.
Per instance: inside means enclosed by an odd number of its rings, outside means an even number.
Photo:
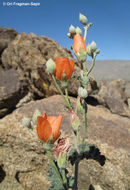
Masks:
[[[5,70],[13,68],[20,71],[23,79],[28,80],[28,88],[33,93],[34,99],[39,99],[58,93],[45,66],[49,58],[54,59],[57,56],[74,60],[70,51],[62,48],[56,41],[45,36],[22,33],[18,34],[3,52],[2,66]],[[75,65],[75,72],[80,72],[77,65]],[[73,79],[69,94],[77,96],[78,87],[79,82]],[[90,92],[93,87],[90,88]]]

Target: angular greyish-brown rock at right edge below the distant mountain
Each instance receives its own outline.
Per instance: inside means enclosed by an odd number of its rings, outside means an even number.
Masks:
[[[99,104],[109,108],[112,113],[130,117],[130,110],[126,104],[124,80],[102,82],[98,95],[94,95]]]

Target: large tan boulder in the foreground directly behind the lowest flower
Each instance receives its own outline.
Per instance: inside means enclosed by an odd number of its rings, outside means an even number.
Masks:
[[[72,106],[76,100],[71,98]],[[23,117],[32,117],[35,109],[48,115],[63,115],[61,136],[72,142],[69,114],[61,96],[31,101],[0,120],[0,166],[26,190],[47,189],[48,159],[37,135],[22,126]],[[101,167],[93,160],[80,164],[79,189],[90,184],[102,190],[129,190],[130,187],[130,119],[112,114],[102,106],[88,105],[87,141],[96,144],[107,158]],[[15,182],[14,182],[15,183]],[[99,188],[100,187],[100,188]],[[12,190],[12,188],[10,188]]]

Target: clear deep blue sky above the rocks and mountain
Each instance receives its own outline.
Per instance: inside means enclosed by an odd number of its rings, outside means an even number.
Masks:
[[[40,6],[3,6],[3,2]],[[101,50],[97,59],[130,60],[130,0],[0,0],[0,26],[48,36],[68,49],[73,43],[67,37],[69,26],[82,27],[79,13],[94,23],[86,43],[97,43]]]

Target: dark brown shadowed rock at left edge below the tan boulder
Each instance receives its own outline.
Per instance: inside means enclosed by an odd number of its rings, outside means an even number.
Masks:
[[[27,94],[26,81],[19,78],[14,69],[0,73],[0,118],[15,109],[19,100]]]

